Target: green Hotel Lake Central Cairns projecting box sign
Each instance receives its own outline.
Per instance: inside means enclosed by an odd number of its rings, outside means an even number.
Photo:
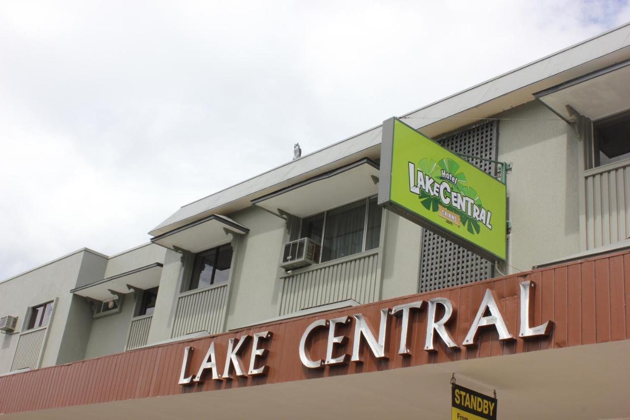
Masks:
[[[404,122],[383,122],[379,204],[491,260],[505,260],[505,184]]]

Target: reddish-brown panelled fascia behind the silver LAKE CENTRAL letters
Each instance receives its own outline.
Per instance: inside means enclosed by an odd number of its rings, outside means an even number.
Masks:
[[[410,356],[397,353],[401,318],[391,317],[389,322],[389,359],[375,359],[369,347],[364,346],[364,363],[348,363],[309,370],[299,359],[299,341],[306,327],[318,318],[352,317],[362,313],[375,334],[378,331],[379,310],[416,300],[447,297],[453,302],[455,317],[449,330],[457,344],[464,340],[479,308],[484,291],[495,290],[510,332],[517,336],[519,328],[518,283],[531,280],[534,288],[534,324],[553,320],[551,335],[540,339],[516,339],[501,342],[494,328],[481,329],[478,346],[459,350],[445,348],[437,340],[434,353],[423,350],[427,311],[412,312],[410,317]],[[343,347],[352,353],[353,322],[339,325],[337,335],[350,337]],[[261,341],[269,349],[265,359],[270,366],[266,376],[212,380],[197,385],[178,385],[184,347],[193,346],[190,372],[196,373],[210,342],[214,341],[219,371],[223,370],[228,339],[263,330],[273,337]],[[313,359],[325,358],[327,329],[314,330],[307,348]],[[387,370],[427,363],[442,363],[460,359],[474,359],[503,354],[524,353],[581,344],[624,340],[630,338],[630,252],[610,254],[568,264],[545,267],[507,277],[489,279],[431,293],[406,296],[369,305],[355,306],[335,312],[320,313],[273,324],[260,325],[227,334],[193,341],[182,341],[147,347],[89,359],[69,365],[53,366],[15,375],[0,377],[0,413],[64,407],[77,404],[95,404],[113,400],[127,400],[158,395],[185,394],[224,388],[246,387],[263,383],[307,380],[325,376]],[[341,353],[341,348],[339,348]],[[251,354],[251,339],[241,353],[245,371]],[[335,354],[336,356],[337,354]]]

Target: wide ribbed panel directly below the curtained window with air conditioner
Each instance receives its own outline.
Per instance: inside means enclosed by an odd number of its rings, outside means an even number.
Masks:
[[[280,315],[313,306],[353,299],[370,303],[378,298],[379,254],[327,265],[284,279]]]

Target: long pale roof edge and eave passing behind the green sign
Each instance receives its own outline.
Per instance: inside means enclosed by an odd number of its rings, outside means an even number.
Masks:
[[[496,78],[471,86],[408,114],[406,124],[437,137],[478,120],[535,100],[534,94],[630,59],[630,24],[597,35]],[[182,206],[153,228],[151,235],[183,226],[213,213],[231,214],[251,201],[359,158],[379,158],[381,126],[373,127],[309,155],[280,165]]]

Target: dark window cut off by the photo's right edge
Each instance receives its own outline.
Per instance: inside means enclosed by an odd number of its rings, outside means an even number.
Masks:
[[[630,111],[593,122],[595,166],[630,158]]]

